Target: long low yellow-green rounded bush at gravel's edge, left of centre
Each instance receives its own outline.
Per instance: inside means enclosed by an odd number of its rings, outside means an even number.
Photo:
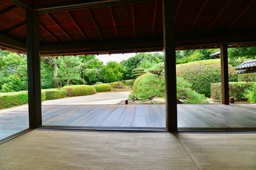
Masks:
[[[92,85],[69,85],[61,89],[67,90],[67,96],[86,96],[96,94],[96,89]]]

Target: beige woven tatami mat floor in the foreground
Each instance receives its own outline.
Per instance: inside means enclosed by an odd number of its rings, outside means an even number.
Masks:
[[[31,131],[0,169],[256,169],[256,134]]]

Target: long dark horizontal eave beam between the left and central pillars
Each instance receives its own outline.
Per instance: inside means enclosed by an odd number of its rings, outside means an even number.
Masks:
[[[56,55],[63,53],[101,53],[128,51],[139,49],[163,48],[162,38],[147,39],[122,39],[115,41],[93,41],[93,42],[66,42],[66,43],[48,43],[40,47],[41,55]]]

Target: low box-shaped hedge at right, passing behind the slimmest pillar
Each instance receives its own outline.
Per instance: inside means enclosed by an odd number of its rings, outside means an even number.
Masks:
[[[234,97],[237,101],[244,101],[245,92],[252,90],[255,82],[229,82],[229,96]],[[221,83],[211,84],[211,98],[220,101],[221,100]]]

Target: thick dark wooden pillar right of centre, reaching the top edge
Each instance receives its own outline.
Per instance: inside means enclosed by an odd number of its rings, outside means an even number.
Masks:
[[[176,57],[174,43],[174,3],[163,0],[164,69],[166,83],[166,129],[177,131]]]

